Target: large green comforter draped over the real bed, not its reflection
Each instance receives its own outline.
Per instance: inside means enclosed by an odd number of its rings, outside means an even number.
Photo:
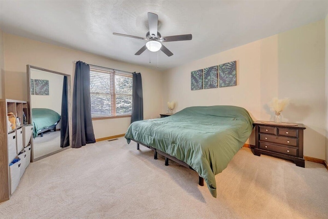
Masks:
[[[222,172],[253,129],[247,110],[235,106],[188,107],[174,115],[130,125],[125,138],[163,151],[191,166],[216,197]]]

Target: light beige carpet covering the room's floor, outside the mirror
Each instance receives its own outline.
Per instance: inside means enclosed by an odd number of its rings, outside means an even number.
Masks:
[[[31,163],[0,218],[327,218],[328,172],[305,167],[242,148],[213,198],[196,172],[121,137]]]

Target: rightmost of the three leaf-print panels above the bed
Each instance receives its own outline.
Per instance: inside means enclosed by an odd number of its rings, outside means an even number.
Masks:
[[[219,65],[219,86],[236,86],[236,61]]]

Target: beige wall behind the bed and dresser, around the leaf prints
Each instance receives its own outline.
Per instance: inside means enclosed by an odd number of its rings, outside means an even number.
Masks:
[[[325,158],[325,28],[324,21],[170,69],[163,78],[163,107],[176,101],[176,111],[189,106],[235,105],[254,120],[272,120],[273,97],[289,97],[284,122],[304,123],[304,155]],[[196,51],[195,51],[196,52]],[[190,72],[237,61],[237,86],[191,91]],[[254,133],[250,144],[255,144]]]

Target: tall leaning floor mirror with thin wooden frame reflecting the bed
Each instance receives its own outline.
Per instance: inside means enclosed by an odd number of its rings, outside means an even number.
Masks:
[[[27,66],[32,162],[68,148],[70,75]]]

